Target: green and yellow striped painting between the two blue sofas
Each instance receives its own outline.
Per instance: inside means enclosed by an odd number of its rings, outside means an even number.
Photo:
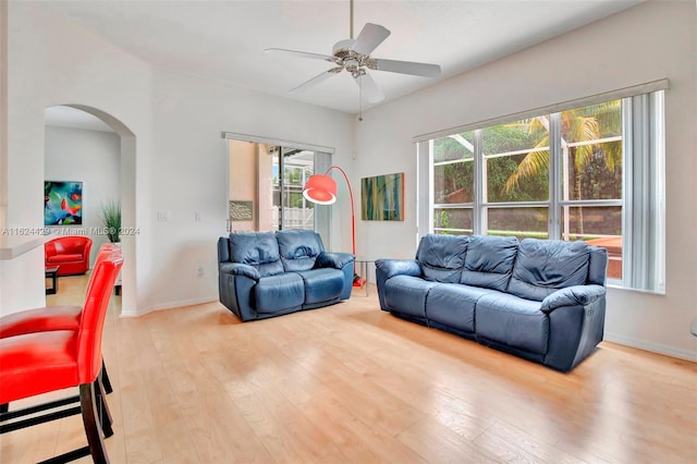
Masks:
[[[366,221],[404,220],[404,173],[360,180],[360,217]]]

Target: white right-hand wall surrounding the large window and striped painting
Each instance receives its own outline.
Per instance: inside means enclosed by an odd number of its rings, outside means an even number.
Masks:
[[[665,296],[610,289],[606,338],[697,358],[697,85],[695,2],[647,2],[365,114],[357,125],[359,178],[405,171],[406,220],[360,221],[374,257],[413,257],[416,150],[412,137],[668,77]]]

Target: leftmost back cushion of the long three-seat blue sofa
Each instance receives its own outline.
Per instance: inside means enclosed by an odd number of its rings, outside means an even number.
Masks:
[[[436,282],[458,282],[467,253],[467,235],[428,234],[421,237],[416,260],[424,278]]]

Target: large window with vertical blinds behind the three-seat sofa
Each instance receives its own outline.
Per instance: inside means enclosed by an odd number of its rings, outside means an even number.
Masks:
[[[664,292],[662,88],[423,139],[420,233],[583,240],[611,284]]]

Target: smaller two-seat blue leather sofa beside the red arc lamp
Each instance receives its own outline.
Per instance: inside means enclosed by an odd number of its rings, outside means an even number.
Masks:
[[[351,296],[354,260],[314,231],[233,232],[218,240],[220,302],[243,321],[331,305]]]

